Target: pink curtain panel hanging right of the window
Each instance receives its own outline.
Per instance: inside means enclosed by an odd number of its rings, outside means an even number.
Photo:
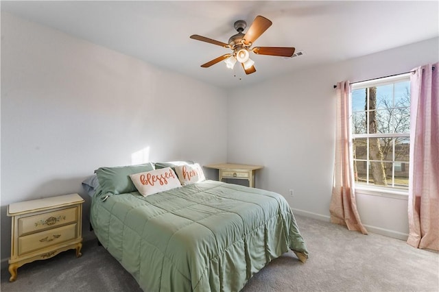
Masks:
[[[439,250],[438,64],[415,69],[410,80],[409,237],[418,248]]]

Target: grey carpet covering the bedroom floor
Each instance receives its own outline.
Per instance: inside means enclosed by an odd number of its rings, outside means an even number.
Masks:
[[[296,219],[310,252],[307,263],[288,252],[255,274],[242,291],[439,291],[438,252],[316,219]],[[23,265],[16,282],[8,279],[3,269],[3,292],[141,291],[96,241],[84,243],[81,258],[73,250],[63,252]]]

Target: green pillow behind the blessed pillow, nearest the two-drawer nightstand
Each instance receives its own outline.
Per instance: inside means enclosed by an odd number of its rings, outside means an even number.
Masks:
[[[97,180],[102,186],[102,193],[114,195],[137,191],[136,186],[130,180],[130,174],[152,171],[154,166],[151,162],[143,165],[129,165],[126,167],[99,167],[95,170]]]

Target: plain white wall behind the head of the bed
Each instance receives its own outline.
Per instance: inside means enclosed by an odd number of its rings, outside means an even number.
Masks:
[[[147,48],[145,48],[147,49]],[[224,90],[1,14],[1,258],[12,202],[80,193],[102,166],[226,160]],[[213,177],[215,178],[215,177]]]

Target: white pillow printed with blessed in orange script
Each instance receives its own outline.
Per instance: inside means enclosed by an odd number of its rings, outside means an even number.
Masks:
[[[172,188],[178,188],[181,186],[176,173],[171,167],[135,173],[130,175],[130,178],[134,183],[134,186],[136,186],[137,191],[139,191],[143,197],[169,191]]]

